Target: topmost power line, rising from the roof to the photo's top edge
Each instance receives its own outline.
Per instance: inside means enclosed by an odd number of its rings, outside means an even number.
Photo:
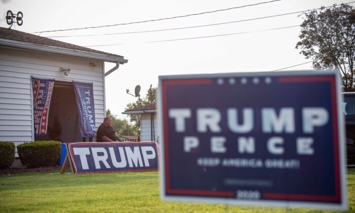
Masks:
[[[257,4],[252,4],[252,5],[243,5],[243,6],[239,6],[239,7],[227,8],[227,9],[221,9],[221,10],[214,10],[214,11],[207,11],[207,12],[195,13],[195,14],[189,14],[189,15],[182,15],[182,16],[174,16],[174,17],[169,17],[169,18],[160,18],[160,19],[152,19],[152,20],[146,20],[146,21],[136,21],[136,22],[129,22],[129,23],[120,23],[120,24],[102,25],[102,26],[92,26],[92,27],[82,27],[82,28],[72,28],[72,29],[47,30],[47,31],[38,31],[38,32],[34,32],[34,33],[68,31],[68,30],[77,30],[77,29],[89,29],[89,28],[99,28],[99,27],[110,27],[110,26],[145,23],[145,22],[152,22],[152,21],[161,21],[161,20],[167,20],[167,19],[183,18],[183,17],[188,17],[188,16],[197,16],[197,15],[202,15],[202,14],[207,14],[207,13],[215,13],[215,12],[221,12],[221,11],[227,11],[227,10],[233,10],[233,9],[257,6],[257,5],[261,5],[261,4],[267,4],[267,3],[278,2],[278,1],[281,1],[281,0],[273,0],[273,1],[270,1],[270,2],[261,2],[261,3],[257,3]]]

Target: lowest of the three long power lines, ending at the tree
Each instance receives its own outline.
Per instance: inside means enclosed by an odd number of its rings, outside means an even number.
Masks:
[[[272,29],[246,31],[246,32],[236,32],[236,33],[218,34],[218,35],[207,35],[207,36],[203,36],[203,37],[193,37],[193,38],[183,38],[183,39],[171,39],[171,40],[161,40],[161,41],[151,41],[151,42],[140,42],[139,44],[144,44],[144,43],[158,43],[158,42],[172,42],[172,41],[182,41],[182,40],[191,40],[191,39],[204,39],[204,38],[212,38],[212,37],[221,37],[221,36],[225,36],[225,35],[236,35],[236,34],[246,34],[246,33],[252,33],[252,32],[270,31],[270,30],[276,30],[276,29],[286,29],[286,28],[299,27],[299,26],[300,26],[300,25],[294,25],[294,26],[278,27],[278,28],[272,28]],[[108,44],[108,45],[90,45],[90,46],[84,46],[84,47],[104,47],[104,46],[118,46],[118,45],[129,45],[129,44],[134,44],[134,43]]]

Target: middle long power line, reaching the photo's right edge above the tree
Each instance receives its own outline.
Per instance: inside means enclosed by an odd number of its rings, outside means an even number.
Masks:
[[[355,3],[355,2],[349,2],[349,3],[344,3],[344,4],[351,4],[351,3]],[[335,6],[339,6],[339,5],[335,5]],[[331,7],[334,7],[334,6],[329,6],[329,7],[324,7],[324,8],[331,8]],[[196,28],[196,27],[206,27],[206,26],[215,26],[215,25],[230,24],[230,23],[237,23],[237,22],[244,22],[244,21],[253,21],[253,20],[259,20],[259,19],[265,19],[265,18],[272,18],[272,17],[278,17],[278,16],[285,16],[285,15],[303,13],[303,12],[308,12],[308,11],[315,11],[315,10],[320,10],[320,9],[322,9],[322,8],[316,8],[316,9],[312,9],[312,10],[304,10],[304,11],[298,11],[298,12],[292,12],[292,13],[284,13],[284,14],[278,14],[278,15],[272,15],[272,16],[264,16],[264,17],[258,17],[258,18],[252,18],[252,19],[244,19],[244,20],[238,20],[238,21],[229,21],[229,22],[223,22],[223,23],[188,26],[188,27],[179,27],[179,28],[156,29],[156,30],[145,30],[145,31],[132,31],[132,32],[104,33],[104,34],[88,34],[88,35],[62,35],[62,36],[50,36],[50,37],[46,37],[46,38],[91,37],[91,36],[99,36],[99,35],[133,34],[133,33],[143,33],[143,32],[158,32],[158,31],[177,30],[177,29],[189,29],[189,28]]]

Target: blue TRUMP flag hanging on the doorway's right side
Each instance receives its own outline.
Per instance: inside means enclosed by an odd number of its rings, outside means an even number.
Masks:
[[[83,137],[95,135],[95,105],[92,83],[73,81],[77,101],[79,130]]]

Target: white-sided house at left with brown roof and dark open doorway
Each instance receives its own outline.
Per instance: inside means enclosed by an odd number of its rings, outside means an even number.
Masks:
[[[116,66],[105,73],[104,62]],[[93,83],[97,130],[105,117],[105,76],[127,62],[120,55],[0,27],[0,141],[17,146],[50,139],[34,136],[32,76],[54,78],[48,127],[59,122],[62,141],[82,141],[72,81]]]

